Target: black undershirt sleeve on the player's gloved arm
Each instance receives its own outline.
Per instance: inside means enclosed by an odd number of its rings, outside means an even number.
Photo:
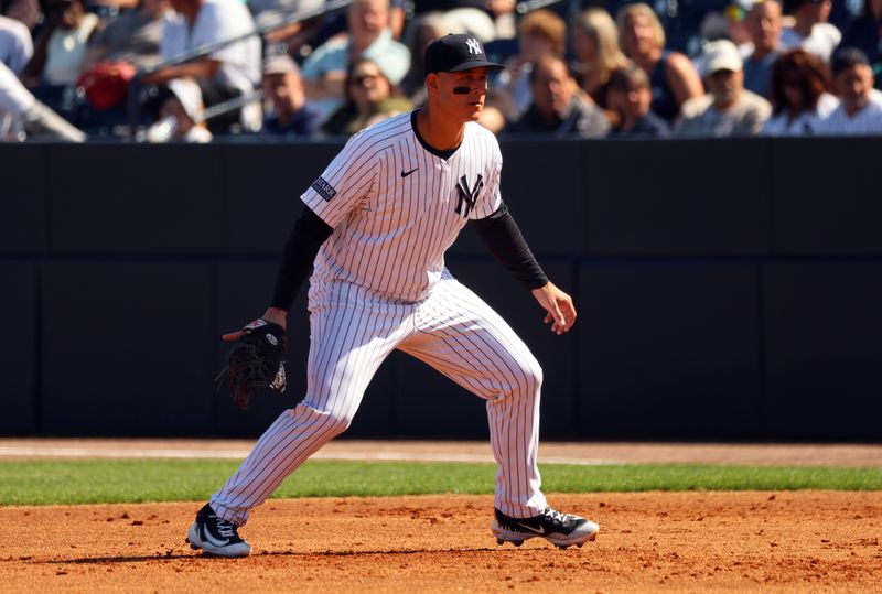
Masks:
[[[309,207],[303,207],[294,223],[282,252],[282,262],[276,278],[276,291],[270,306],[290,311],[300,285],[309,277],[319,248],[331,237],[334,229]]]

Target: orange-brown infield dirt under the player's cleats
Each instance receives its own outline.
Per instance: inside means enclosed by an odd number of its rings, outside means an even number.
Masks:
[[[6,592],[879,592],[882,493],[550,495],[595,542],[497,547],[490,496],[270,500],[248,559],[184,533],[200,504],[0,508]]]

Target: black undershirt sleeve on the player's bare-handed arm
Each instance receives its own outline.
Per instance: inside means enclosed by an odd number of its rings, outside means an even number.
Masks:
[[[475,227],[496,261],[524,287],[534,290],[548,283],[548,277],[536,261],[505,203],[491,216],[475,220]]]

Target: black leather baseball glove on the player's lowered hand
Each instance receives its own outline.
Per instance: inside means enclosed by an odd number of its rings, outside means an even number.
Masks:
[[[286,388],[284,330],[266,320],[255,320],[243,328],[234,343],[227,364],[215,378],[217,389],[229,384],[233,401],[246,410],[251,395],[270,389],[282,393]]]

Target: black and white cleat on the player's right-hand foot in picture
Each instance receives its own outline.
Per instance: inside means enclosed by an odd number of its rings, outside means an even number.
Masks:
[[[581,547],[594,540],[600,531],[600,527],[592,521],[555,511],[550,507],[533,518],[509,518],[496,509],[490,529],[498,544],[510,542],[519,547],[529,538],[541,537],[560,549],[571,544]]]

